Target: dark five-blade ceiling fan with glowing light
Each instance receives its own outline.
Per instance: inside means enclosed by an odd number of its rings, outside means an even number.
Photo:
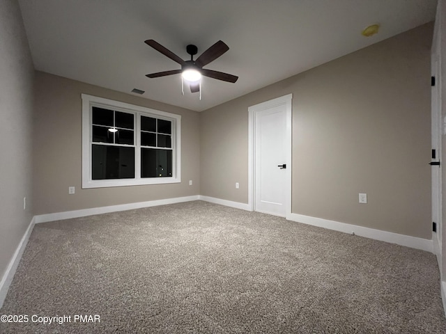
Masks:
[[[198,48],[195,45],[187,45],[186,51],[187,54],[190,54],[190,61],[183,61],[182,58],[174,54],[174,52],[170,51],[169,49],[166,49],[165,47],[160,45],[160,43],[155,42],[155,40],[146,40],[144,42],[146,43],[146,45],[153,47],[153,49],[161,52],[162,54],[164,54],[164,56],[171,58],[172,61],[176,61],[176,63],[181,65],[180,70],[151,73],[147,74],[146,77],[157,78],[181,73],[183,79],[189,82],[190,91],[192,93],[197,93],[200,91],[200,79],[202,75],[205,77],[232,83],[236,82],[238,79],[238,77],[232,74],[203,68],[203,66],[208,65],[208,63],[210,63],[211,61],[215,61],[215,59],[222,56],[222,54],[229,50],[229,47],[221,40],[204,51],[201,56],[199,56],[195,60],[194,56],[197,54]]]

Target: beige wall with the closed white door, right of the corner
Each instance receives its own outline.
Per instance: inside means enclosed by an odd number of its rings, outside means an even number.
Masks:
[[[431,239],[432,30],[420,26],[201,113],[201,195],[247,202],[247,109],[293,93],[292,212]]]

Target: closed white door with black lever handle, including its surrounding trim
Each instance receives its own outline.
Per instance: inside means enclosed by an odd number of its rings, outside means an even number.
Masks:
[[[254,210],[291,212],[291,95],[249,109],[254,125]]]

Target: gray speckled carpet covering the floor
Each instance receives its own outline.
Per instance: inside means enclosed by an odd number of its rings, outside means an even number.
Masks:
[[[36,225],[3,314],[30,318],[1,333],[446,333],[434,255],[201,201]]]

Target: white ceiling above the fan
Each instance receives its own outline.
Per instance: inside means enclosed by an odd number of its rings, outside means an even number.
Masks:
[[[203,111],[276,81],[433,21],[436,0],[19,0],[36,70]],[[361,35],[380,24],[370,38]],[[203,78],[202,97],[179,69],[144,40],[181,58],[217,40],[229,51],[206,65],[238,75],[235,84]]]

